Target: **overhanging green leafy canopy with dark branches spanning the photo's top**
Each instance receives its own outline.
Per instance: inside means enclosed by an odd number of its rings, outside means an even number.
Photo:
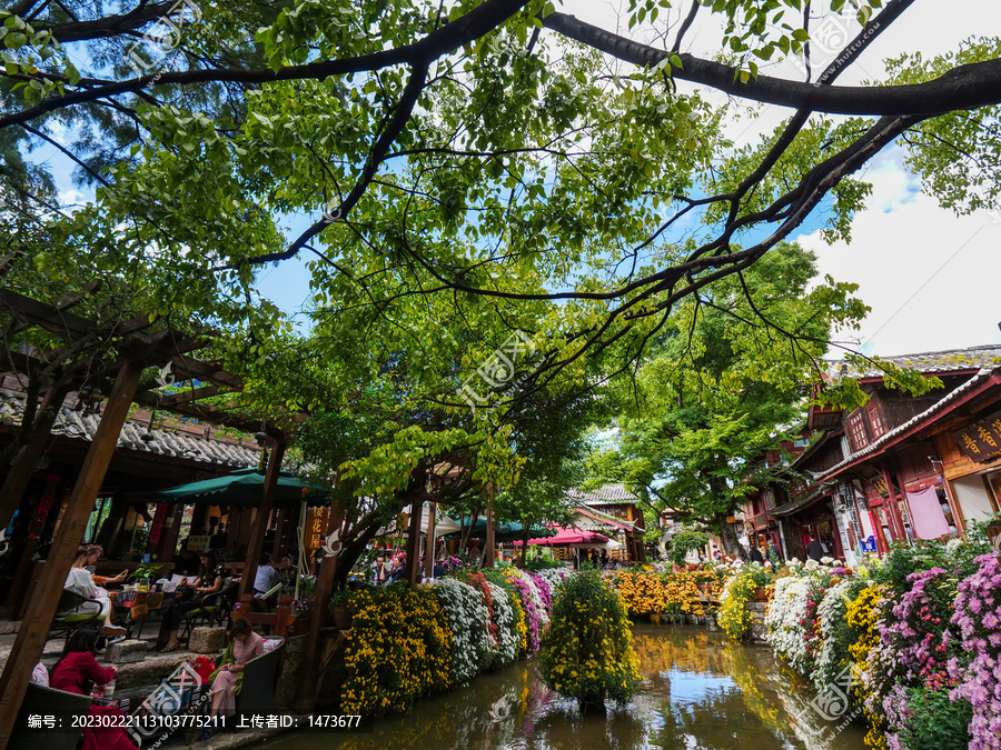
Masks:
[[[891,143],[944,206],[994,201],[997,40],[838,83],[904,13],[936,12],[912,4],[637,0],[622,36],[542,0],[16,0],[0,11],[0,213],[61,238],[32,251],[44,264],[176,269],[165,311],[224,298],[250,316],[256,270],[300,252],[338,314],[521,302],[536,381],[579,381],[585,353],[642,360],[678,302],[819,207],[848,237],[869,191],[855,174]],[[821,18],[850,40],[832,62],[764,74],[816,62]],[[690,51],[698,22],[722,22],[712,58]],[[734,144],[720,92],[791,116]],[[53,204],[41,146],[92,203]]]

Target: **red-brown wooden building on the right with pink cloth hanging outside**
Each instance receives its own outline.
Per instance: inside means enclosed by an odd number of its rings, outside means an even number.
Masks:
[[[774,504],[763,508],[786,554],[803,557],[813,534],[851,561],[863,551],[884,554],[894,541],[954,536],[998,512],[1001,347],[888,359],[942,388],[912,397],[886,388],[874,366],[834,363],[831,377],[859,380],[869,401],[854,410],[811,407],[810,443],[789,462],[800,479],[767,488]]]

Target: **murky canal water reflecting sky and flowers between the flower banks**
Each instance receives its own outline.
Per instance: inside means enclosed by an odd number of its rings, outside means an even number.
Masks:
[[[861,726],[825,720],[771,650],[685,626],[636,626],[643,684],[606,717],[581,716],[531,661],[419,701],[367,734],[287,734],[261,750],[858,750]],[[826,706],[821,702],[824,710]],[[829,710],[830,712],[830,710]]]

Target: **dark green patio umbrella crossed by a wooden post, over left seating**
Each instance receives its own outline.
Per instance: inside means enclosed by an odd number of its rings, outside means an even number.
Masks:
[[[264,493],[264,472],[257,469],[240,469],[225,477],[204,479],[171,487],[157,492],[158,502],[207,502],[214,506],[235,506],[237,508],[256,508]],[[307,484],[287,471],[278,473],[278,491],[275,507],[294,507],[305,500],[310,506],[323,506],[330,494],[329,488]]]

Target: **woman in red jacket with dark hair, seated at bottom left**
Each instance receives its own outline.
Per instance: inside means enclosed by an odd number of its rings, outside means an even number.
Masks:
[[[93,658],[97,631],[78,630],[66,642],[66,652],[52,668],[49,687],[80,696],[89,696],[95,684],[108,684],[115,679],[113,667],[101,667]],[[110,706],[91,706],[91,716],[121,716]],[[109,722],[113,723],[113,722]],[[121,727],[88,727],[83,729],[81,750],[138,750]]]

